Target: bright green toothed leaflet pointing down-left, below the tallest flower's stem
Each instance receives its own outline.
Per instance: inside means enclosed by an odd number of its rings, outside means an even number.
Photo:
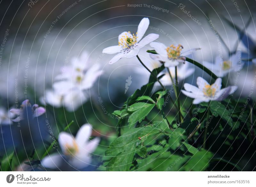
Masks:
[[[142,107],[136,110],[132,115],[130,115],[128,122],[129,122],[129,129],[132,125],[139,121],[139,123],[145,119],[148,113],[154,108],[155,104],[148,104],[148,107]]]

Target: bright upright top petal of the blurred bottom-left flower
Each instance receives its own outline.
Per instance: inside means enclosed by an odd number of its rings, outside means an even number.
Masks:
[[[92,134],[92,126],[90,124],[84,124],[76,134],[76,142],[83,146],[84,143],[89,140]]]

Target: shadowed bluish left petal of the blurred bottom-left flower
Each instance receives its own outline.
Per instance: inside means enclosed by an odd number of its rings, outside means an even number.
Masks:
[[[41,160],[41,164],[44,168],[55,169],[61,166],[62,161],[64,161],[63,155],[55,153],[44,157],[44,159]]]

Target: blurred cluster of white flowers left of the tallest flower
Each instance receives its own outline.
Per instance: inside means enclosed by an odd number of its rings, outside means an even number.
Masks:
[[[92,87],[102,71],[99,64],[90,63],[88,54],[84,52],[80,58],[73,58],[71,64],[62,67],[61,72],[56,76],[52,90],[46,90],[41,101],[54,107],[64,105],[72,112],[87,101],[86,90]]]

